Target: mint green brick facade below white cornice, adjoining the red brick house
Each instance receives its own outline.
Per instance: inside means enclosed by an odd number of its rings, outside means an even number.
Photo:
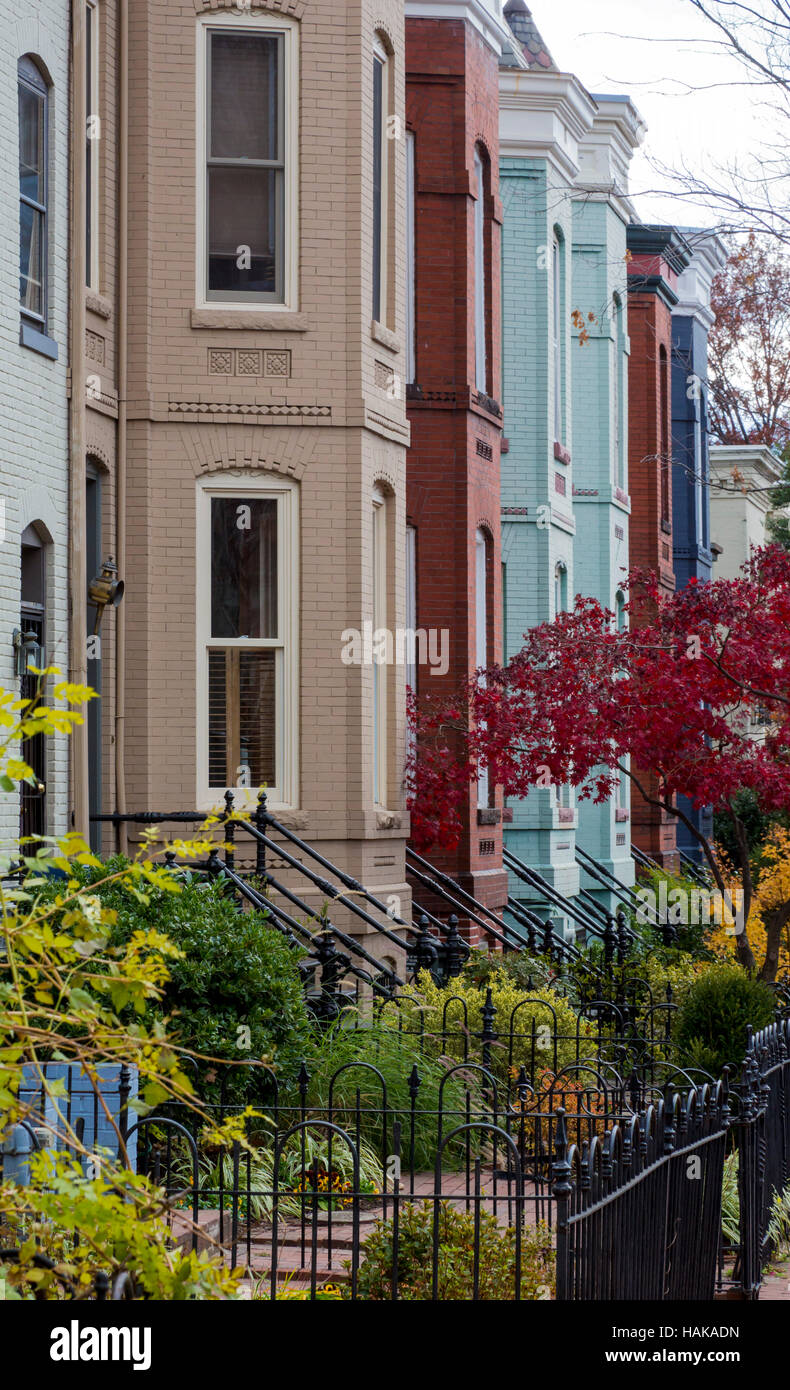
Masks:
[[[549,160],[502,158],[499,188],[505,213],[502,377],[508,453],[502,455],[501,477],[508,657],[519,651],[530,627],[551,621],[558,607],[573,603],[573,475],[562,457],[573,450],[573,207],[570,189]],[[555,296],[561,325],[556,367]],[[579,869],[572,791],[535,788],[526,801],[512,802],[510,809],[513,820],[505,828],[508,848],[563,895],[573,897],[579,891]],[[540,897],[513,876],[510,892],[545,915]],[[556,919],[556,909],[551,915]]]

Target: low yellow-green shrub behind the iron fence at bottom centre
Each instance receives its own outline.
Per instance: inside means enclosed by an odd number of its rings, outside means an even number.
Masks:
[[[438,1208],[440,1261],[437,1295],[441,1302],[474,1297],[474,1212],[458,1211],[449,1202]],[[398,1297],[405,1302],[433,1298],[434,1204],[406,1204],[399,1212]],[[394,1227],[380,1220],[362,1247],[357,1297],[378,1302],[392,1298]],[[554,1251],[551,1234],[541,1223],[522,1232],[522,1298],[551,1298]],[[495,1216],[480,1211],[478,1289],[484,1301],[505,1302],[516,1293],[516,1233],[499,1226]],[[344,1289],[350,1297],[350,1289]]]

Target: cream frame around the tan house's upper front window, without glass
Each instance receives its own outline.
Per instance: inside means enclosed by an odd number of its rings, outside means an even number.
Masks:
[[[282,35],[282,158],[284,174],[284,245],[282,245],[282,300],[242,299],[238,295],[228,299],[209,297],[209,199],[207,199],[207,133],[209,133],[209,35],[211,31],[267,31]],[[196,43],[196,188],[195,188],[195,232],[196,232],[196,285],[195,304],[198,309],[221,309],[235,313],[267,314],[293,313],[299,307],[299,25],[281,14],[234,14],[223,10],[198,19]]]

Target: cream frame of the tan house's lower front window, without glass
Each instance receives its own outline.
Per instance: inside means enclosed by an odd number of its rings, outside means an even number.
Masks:
[[[275,638],[211,637],[211,499],[249,498],[277,502],[277,616]],[[270,809],[299,803],[299,492],[285,478],[211,478],[198,484],[198,581],[196,581],[196,734],[198,809],[217,806],[225,788],[209,784],[209,649],[238,646],[243,651],[274,649],[275,657],[275,769],[267,787]],[[252,809],[257,787],[234,787],[236,809]]]

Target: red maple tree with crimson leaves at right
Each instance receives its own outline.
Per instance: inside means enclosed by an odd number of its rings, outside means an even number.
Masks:
[[[529,631],[506,666],[477,673],[451,702],[413,708],[413,840],[423,849],[455,841],[483,767],[516,798],[570,783],[599,802],[629,776],[688,827],[730,908],[715,845],[677,798],[733,816],[745,920],[751,869],[733,798],[752,788],[765,809],[790,808],[790,556],[769,546],[739,578],[669,596],[634,573],[627,612],[630,626],[618,630],[613,613],[577,598],[573,612]],[[658,778],[655,795],[634,769]],[[754,970],[745,933],[736,940]],[[777,956],[779,941],[769,941],[764,977],[775,979]]]

